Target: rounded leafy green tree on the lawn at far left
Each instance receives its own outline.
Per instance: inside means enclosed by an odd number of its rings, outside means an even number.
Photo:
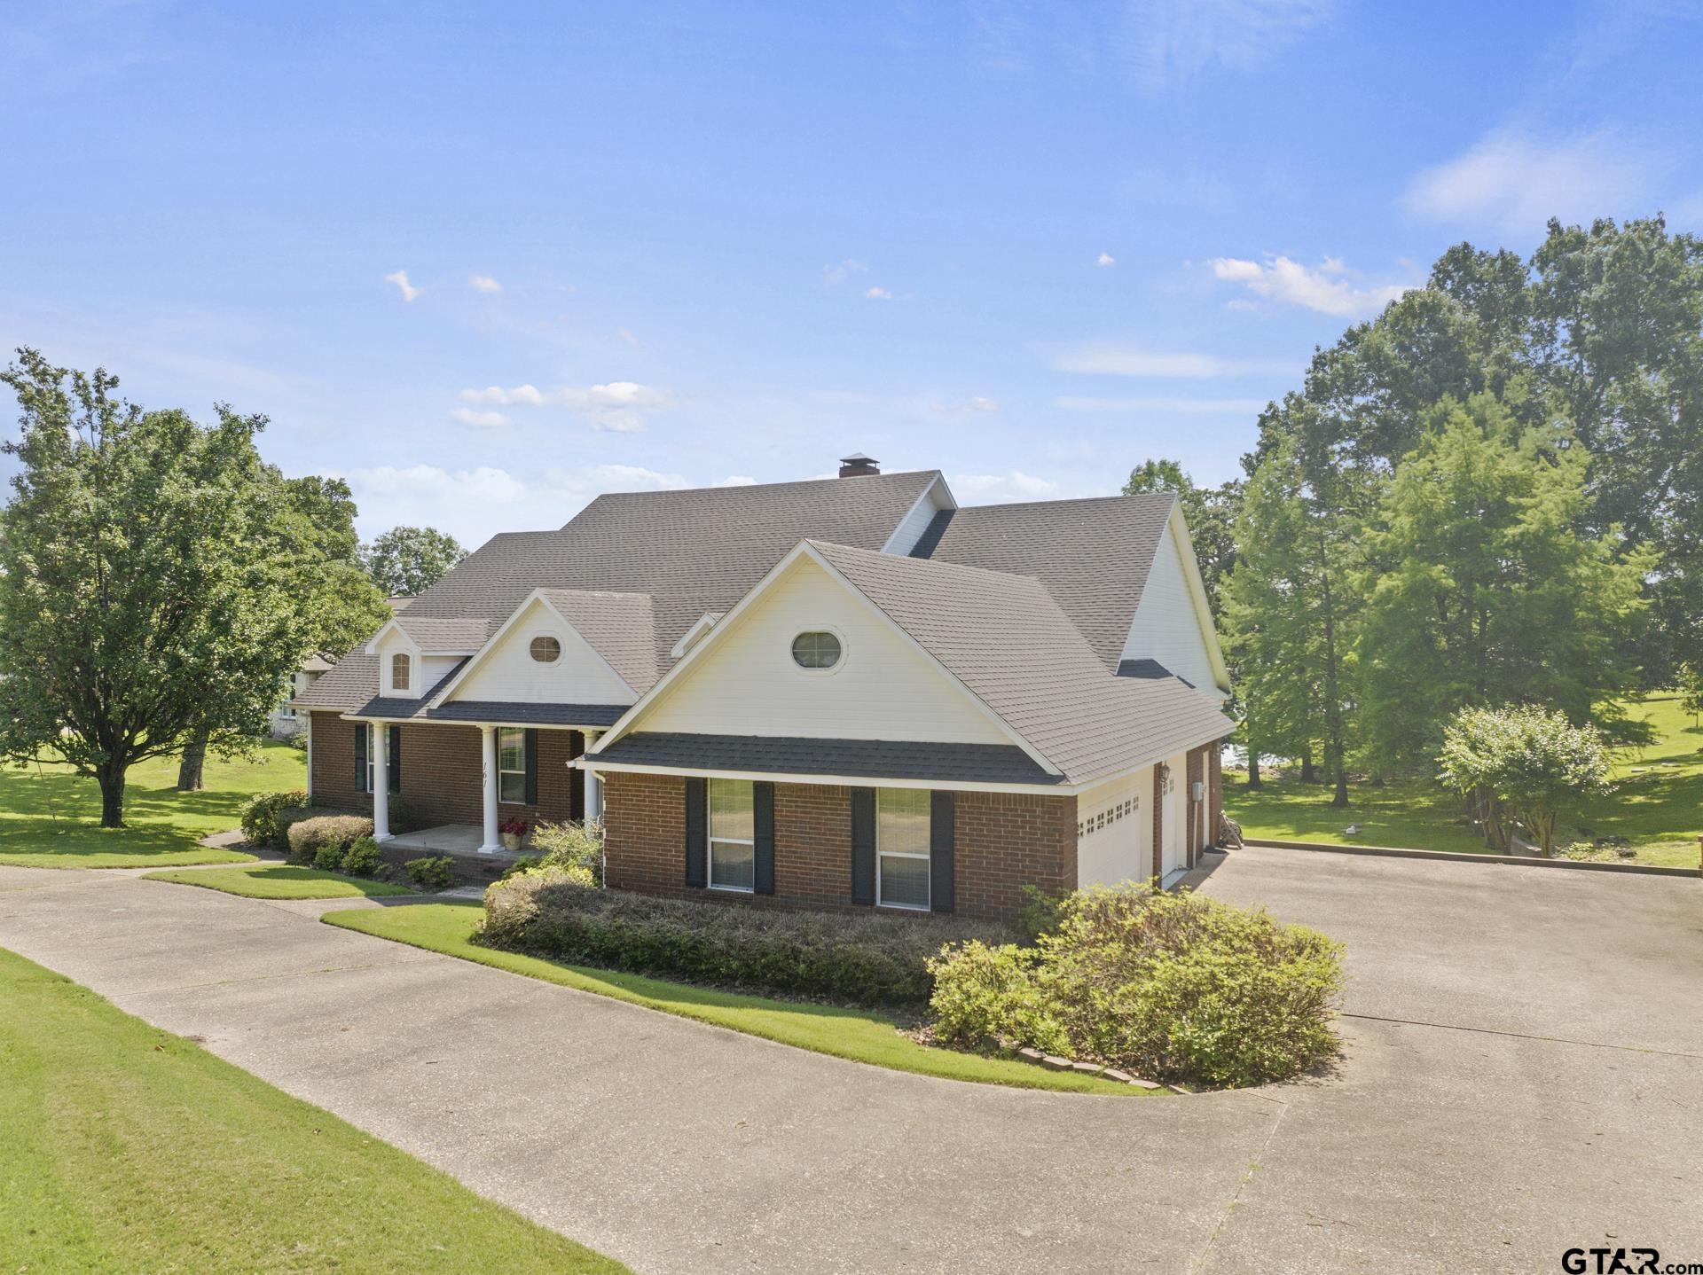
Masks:
[[[32,349],[0,373],[22,409],[0,511],[0,754],[56,756],[100,785],[123,827],[124,776],[191,740],[252,747],[308,654],[300,545],[264,417],[145,412],[118,378]]]

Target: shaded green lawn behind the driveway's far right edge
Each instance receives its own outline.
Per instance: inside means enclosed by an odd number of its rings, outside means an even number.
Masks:
[[[1631,717],[1650,723],[1654,742],[1616,749],[1616,790],[1563,820],[1558,841],[1621,836],[1637,849],[1631,861],[1694,868],[1703,834],[1703,727],[1679,712],[1676,696],[1640,700]],[[1240,771],[1224,775],[1224,809],[1248,838],[1466,853],[1485,848],[1459,798],[1436,785],[1354,785],[1349,797],[1347,807],[1333,807],[1330,790],[1318,785],[1284,778],[1250,792]],[[1350,834],[1350,824],[1359,831]]]

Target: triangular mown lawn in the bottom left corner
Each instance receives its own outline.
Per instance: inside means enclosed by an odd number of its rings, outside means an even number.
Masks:
[[[625,1270],[10,952],[0,1268]]]

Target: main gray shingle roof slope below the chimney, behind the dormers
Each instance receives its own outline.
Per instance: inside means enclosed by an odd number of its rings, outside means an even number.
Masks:
[[[492,536],[400,618],[484,620],[489,633],[540,587],[649,594],[661,671],[698,616],[727,611],[800,540],[877,550],[937,477],[921,470],[599,495],[557,531]],[[358,649],[298,703],[347,712],[376,689],[378,660]]]

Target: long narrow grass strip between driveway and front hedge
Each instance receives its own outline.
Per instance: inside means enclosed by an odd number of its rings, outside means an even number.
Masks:
[[[565,965],[540,957],[523,957],[514,952],[497,952],[472,943],[484,909],[472,901],[463,904],[412,904],[404,907],[361,909],[354,912],[327,912],[322,921],[363,935],[390,938],[429,952],[443,952],[463,960],[477,960],[513,974],[559,982],[616,1001],[662,1009],[681,1018],[697,1018],[734,1032],[744,1032],[783,1045],[797,1045],[817,1054],[831,1054],[853,1062],[870,1062],[894,1071],[915,1071],[923,1076],[942,1076],[954,1081],[979,1081],[983,1084],[1015,1084],[1027,1089],[1073,1089],[1078,1093],[1117,1093],[1134,1096],[1148,1093],[1132,1084],[1044,1071],[1029,1062],[1012,1059],[984,1059],[950,1049],[920,1045],[897,1030],[897,1021],[865,1009],[841,1009],[828,1004],[775,1001],[763,996],[743,996],[712,987],[691,987],[640,974]]]

